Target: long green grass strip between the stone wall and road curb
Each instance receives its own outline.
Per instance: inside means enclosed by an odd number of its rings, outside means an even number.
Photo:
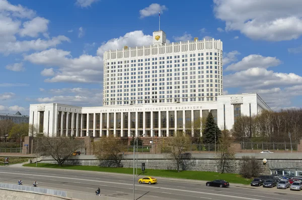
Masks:
[[[23,166],[35,167],[36,164],[35,163],[24,164]],[[83,165],[63,165],[63,166],[59,167],[57,164],[47,164],[47,163],[38,163],[38,167],[133,174],[133,168],[112,168],[112,167],[83,166]],[[250,184],[250,182],[251,182],[251,179],[243,178],[243,177],[241,177],[241,175],[235,174],[235,173],[216,173],[216,172],[208,172],[208,171],[177,172],[176,170],[146,169],[145,172],[142,174],[140,168],[137,168],[137,173],[139,173],[140,176],[149,175],[149,176],[155,176],[155,177],[162,176],[162,177],[170,177],[170,178],[185,178],[185,179],[195,179],[195,180],[224,179],[224,180],[232,182],[232,183],[242,183],[242,184]]]

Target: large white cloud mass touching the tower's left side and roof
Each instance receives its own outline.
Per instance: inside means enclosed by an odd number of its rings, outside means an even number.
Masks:
[[[169,41],[168,41],[169,42]],[[105,51],[147,46],[152,44],[152,36],[142,31],[133,31],[124,36],[103,43],[97,50],[97,56],[81,55],[72,58],[68,51],[49,49],[25,55],[24,60],[33,64],[56,67],[56,73],[45,82],[101,83],[103,81],[103,54]]]

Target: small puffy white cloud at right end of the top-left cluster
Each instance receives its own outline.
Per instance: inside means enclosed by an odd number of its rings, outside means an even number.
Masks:
[[[20,36],[38,37],[39,33],[45,33],[48,30],[49,20],[36,17],[31,21],[23,23],[23,29],[20,30]]]

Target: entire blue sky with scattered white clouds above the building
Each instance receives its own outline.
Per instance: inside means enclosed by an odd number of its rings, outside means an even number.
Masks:
[[[152,44],[159,11],[170,42],[222,40],[224,94],[300,108],[301,10],[296,0],[0,0],[0,112],[102,105],[103,52]]]

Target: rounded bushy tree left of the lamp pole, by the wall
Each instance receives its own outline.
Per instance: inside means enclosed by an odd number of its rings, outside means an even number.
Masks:
[[[101,160],[101,165],[108,167],[123,167],[121,161],[123,159],[122,152],[125,145],[120,138],[109,134],[108,137],[102,137],[94,143],[95,155]]]

